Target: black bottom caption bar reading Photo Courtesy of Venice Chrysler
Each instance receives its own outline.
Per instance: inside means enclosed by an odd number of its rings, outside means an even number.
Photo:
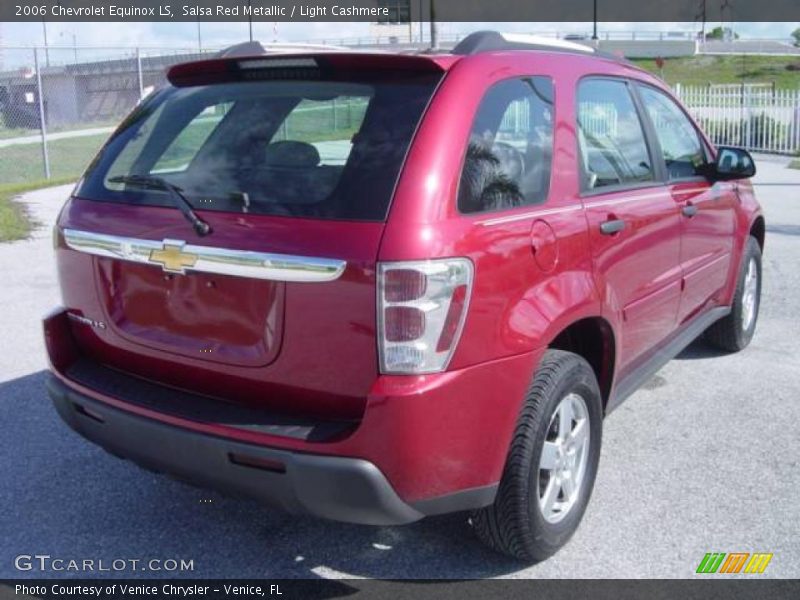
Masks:
[[[0,580],[0,600],[788,600],[800,594],[797,580],[208,580],[38,579]]]

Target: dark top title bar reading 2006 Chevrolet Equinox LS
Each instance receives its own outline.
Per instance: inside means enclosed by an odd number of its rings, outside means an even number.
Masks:
[[[365,21],[431,20],[432,0],[2,0],[0,21]],[[800,21],[800,0],[435,0],[434,20]]]

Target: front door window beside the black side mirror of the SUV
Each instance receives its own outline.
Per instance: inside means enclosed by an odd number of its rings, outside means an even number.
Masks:
[[[656,130],[669,178],[683,179],[700,175],[706,155],[692,122],[665,94],[648,87],[640,87],[639,90]]]

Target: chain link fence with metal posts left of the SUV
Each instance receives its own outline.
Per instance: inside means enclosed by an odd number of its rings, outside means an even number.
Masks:
[[[0,183],[80,176],[120,120],[196,50],[4,48]]]

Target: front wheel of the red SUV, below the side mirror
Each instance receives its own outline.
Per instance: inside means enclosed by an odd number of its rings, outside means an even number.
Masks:
[[[748,237],[739,266],[731,312],[706,330],[706,339],[728,352],[743,350],[753,339],[760,306],[761,247],[754,237]]]

